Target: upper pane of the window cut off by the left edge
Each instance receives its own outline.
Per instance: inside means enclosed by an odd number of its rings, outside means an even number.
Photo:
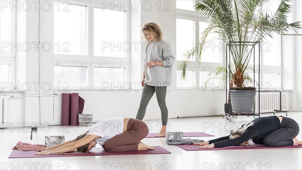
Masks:
[[[9,3],[9,2],[8,2]],[[11,40],[11,6],[0,10],[0,41],[10,43]],[[11,48],[3,48],[4,51],[10,51]]]

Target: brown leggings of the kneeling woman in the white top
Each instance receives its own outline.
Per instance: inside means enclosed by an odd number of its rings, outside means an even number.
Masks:
[[[124,152],[137,150],[137,143],[149,133],[147,125],[137,119],[130,119],[126,132],[109,139],[102,146],[107,152]]]

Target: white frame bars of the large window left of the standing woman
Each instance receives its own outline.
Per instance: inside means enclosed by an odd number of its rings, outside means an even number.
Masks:
[[[62,0],[56,2],[64,2]],[[94,56],[94,8],[102,8],[103,2],[91,1],[68,1],[72,5],[80,5],[87,7],[87,39],[88,39],[88,55],[70,55],[70,54],[54,54],[54,66],[85,66],[87,67],[87,86],[69,86],[68,90],[99,90],[100,86],[95,86],[94,83],[94,68],[97,66],[111,67],[111,68],[125,68],[125,82],[129,81],[130,76],[130,52],[125,52],[125,57],[103,57]],[[116,5],[116,2],[114,2]],[[110,5],[109,9],[112,8]],[[130,42],[130,25],[129,25],[129,12],[125,12],[125,41]],[[60,42],[61,43],[61,42]],[[132,44],[131,44],[132,45]],[[56,87],[59,89],[63,86]],[[127,90],[127,89],[126,89]]]

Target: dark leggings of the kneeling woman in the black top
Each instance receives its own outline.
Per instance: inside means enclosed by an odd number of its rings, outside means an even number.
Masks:
[[[282,118],[281,128],[268,134],[263,143],[268,147],[292,146],[293,138],[299,133],[298,124],[290,118]]]

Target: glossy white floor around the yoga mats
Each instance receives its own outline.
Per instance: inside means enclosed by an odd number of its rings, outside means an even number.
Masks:
[[[261,117],[272,114],[262,114]],[[285,114],[279,113],[277,115]],[[301,139],[301,112],[289,112],[288,117],[296,120],[300,127],[297,138]],[[230,123],[222,117],[198,117],[169,119],[169,131],[205,132],[215,137],[194,137],[192,139],[210,140],[226,136],[233,127],[236,129],[253,117],[234,118]],[[145,121],[151,132],[158,132],[160,120]],[[38,142],[44,142],[44,136],[64,135],[65,140],[75,138],[88,127],[40,127]],[[1,130],[1,167],[0,169],[302,169],[302,149],[255,149],[255,150],[217,150],[186,151],[177,146],[165,144],[164,138],[146,138],[143,142],[152,146],[162,146],[172,152],[158,155],[122,155],[122,156],[84,156],[50,158],[13,158],[8,159],[12,147],[18,142],[30,143],[28,128]],[[98,146],[100,147],[100,146]]]

